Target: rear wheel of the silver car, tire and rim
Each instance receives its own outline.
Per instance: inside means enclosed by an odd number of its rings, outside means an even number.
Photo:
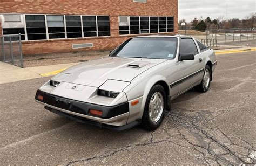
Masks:
[[[212,74],[212,71],[211,71],[210,66],[206,65],[205,66],[204,75],[203,75],[203,79],[201,81],[201,84],[198,85],[198,91],[199,92],[207,92],[210,89],[210,86],[211,86],[211,74]]]

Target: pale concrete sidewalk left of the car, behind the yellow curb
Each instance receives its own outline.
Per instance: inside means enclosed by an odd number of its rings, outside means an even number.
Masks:
[[[41,78],[43,77],[42,75],[40,75],[42,73],[50,73],[52,71],[68,68],[76,64],[78,63],[20,68],[0,61],[0,84],[21,80],[29,80],[33,78]]]

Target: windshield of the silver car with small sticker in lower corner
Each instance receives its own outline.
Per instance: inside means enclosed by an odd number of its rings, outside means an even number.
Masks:
[[[131,38],[114,50],[111,57],[174,59],[177,52],[175,37]]]

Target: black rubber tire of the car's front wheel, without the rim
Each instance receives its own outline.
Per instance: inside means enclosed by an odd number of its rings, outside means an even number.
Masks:
[[[153,123],[153,122],[151,122],[150,117],[149,117],[149,103],[150,103],[152,95],[156,92],[160,92],[161,95],[163,95],[164,110],[163,110],[163,113],[161,114],[160,119],[156,123]],[[161,122],[164,120],[165,109],[166,109],[166,94],[165,94],[164,88],[161,85],[154,85],[151,88],[149,95],[147,95],[147,100],[145,103],[145,108],[144,108],[143,118],[142,118],[142,126],[147,130],[157,129],[161,125]]]

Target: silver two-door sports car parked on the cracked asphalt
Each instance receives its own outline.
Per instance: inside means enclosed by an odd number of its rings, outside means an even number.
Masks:
[[[38,89],[45,109],[69,119],[123,130],[158,128],[170,101],[210,88],[215,53],[188,36],[134,37],[108,57],[68,68]]]

